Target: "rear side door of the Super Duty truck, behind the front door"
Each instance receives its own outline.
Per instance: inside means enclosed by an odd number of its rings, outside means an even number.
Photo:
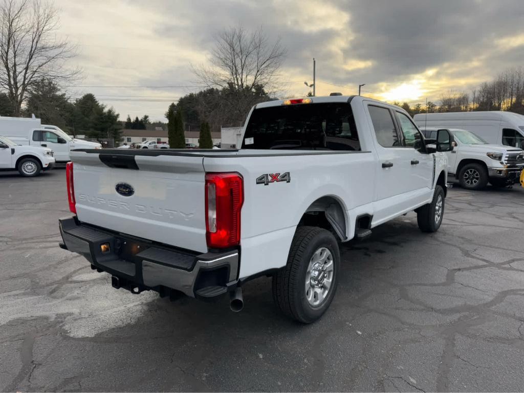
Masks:
[[[401,143],[394,113],[378,103],[367,104],[378,155],[373,222],[378,225],[412,205],[410,191],[412,152]]]

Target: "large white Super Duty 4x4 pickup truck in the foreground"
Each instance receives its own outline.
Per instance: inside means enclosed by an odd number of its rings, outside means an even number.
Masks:
[[[115,288],[229,292],[235,311],[243,283],[272,276],[278,307],[310,323],[335,294],[338,241],[413,210],[438,230],[452,142],[397,106],[329,96],[256,105],[240,150],[76,150],[60,246]]]

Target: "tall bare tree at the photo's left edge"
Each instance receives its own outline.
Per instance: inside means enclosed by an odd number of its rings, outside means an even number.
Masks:
[[[56,8],[40,0],[0,0],[0,88],[7,91],[15,116],[31,87],[42,80],[70,81],[79,70],[65,63],[75,48],[57,38]]]

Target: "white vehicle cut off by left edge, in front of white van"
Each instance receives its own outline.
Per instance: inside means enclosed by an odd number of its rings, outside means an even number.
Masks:
[[[22,176],[34,177],[53,166],[51,149],[20,146],[9,138],[0,136],[0,170],[17,170]]]

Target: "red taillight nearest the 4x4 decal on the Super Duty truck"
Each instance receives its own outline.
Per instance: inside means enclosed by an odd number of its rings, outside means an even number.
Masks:
[[[210,248],[240,243],[240,210],[244,181],[236,172],[205,175],[205,237]]]

